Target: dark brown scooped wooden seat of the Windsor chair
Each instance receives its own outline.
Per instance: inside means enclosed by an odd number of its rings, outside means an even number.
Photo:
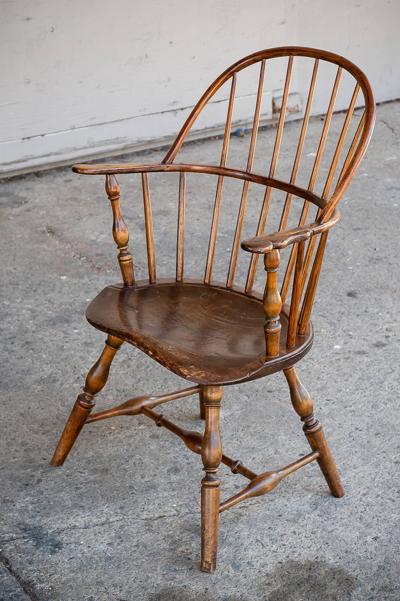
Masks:
[[[306,336],[287,348],[288,312],[281,311],[279,355],[267,357],[262,296],[201,280],[146,280],[133,290],[107,286],[87,308],[86,318],[178,376],[203,385],[246,382],[287,369],[312,344],[310,323]]]

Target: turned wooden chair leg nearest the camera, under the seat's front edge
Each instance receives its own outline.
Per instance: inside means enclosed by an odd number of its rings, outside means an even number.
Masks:
[[[218,542],[219,484],[221,484],[217,474],[222,457],[219,436],[222,386],[204,386],[203,395],[206,427],[201,445],[201,461],[206,475],[201,480],[201,570],[214,572]]]

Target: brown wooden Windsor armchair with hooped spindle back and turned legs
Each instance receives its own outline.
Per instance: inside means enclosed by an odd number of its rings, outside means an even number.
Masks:
[[[275,178],[275,171],[287,110],[291,73],[294,61],[299,60],[298,56],[311,59],[311,84],[303,111],[299,140],[295,142],[297,148],[290,180],[282,181]],[[267,61],[279,57],[287,57],[287,71],[269,173],[262,175],[252,171],[252,166],[264,74]],[[309,174],[308,187],[302,188],[296,185],[296,178],[321,61],[333,64],[334,69],[337,66],[337,70],[332,93],[329,92],[330,99],[321,126],[320,141]],[[236,81],[243,69],[255,63],[260,64],[260,77],[248,161],[245,169],[229,168],[227,153],[233,123]],[[347,112],[343,114],[342,129],[333,156],[331,154],[328,167],[325,169],[323,191],[318,195],[314,191],[318,168],[323,157],[339,83],[342,73],[345,72],[354,78],[355,87]],[[213,94],[228,80],[231,85],[221,162],[219,165],[174,163],[194,121],[207,102],[212,99]],[[354,136],[350,136],[350,141],[347,141],[346,135],[350,132],[349,125],[360,91],[363,96],[363,99],[360,96],[360,105],[365,106],[365,109],[359,118]],[[321,424],[314,416],[311,397],[300,383],[294,365],[309,352],[312,346],[314,332],[309,318],[327,234],[339,219],[336,206],[366,151],[374,127],[374,118],[375,105],[371,87],[365,75],[353,63],[333,53],[311,48],[273,48],[246,56],[229,67],[210,85],[187,118],[161,163],[73,166],[73,171],[79,174],[106,176],[106,192],[113,212],[113,237],[119,251],[118,261],[123,284],[104,288],[89,304],[86,311],[89,323],[108,335],[106,346],[86,377],[83,392],[77,397],[68,418],[53,456],[52,465],[62,465],[85,424],[116,415],[142,413],[154,420],[157,426],[163,426],[178,435],[191,451],[201,454],[204,466],[204,477],[201,480],[201,569],[205,572],[213,572],[216,566],[218,514],[244,499],[264,495],[296,469],[317,460],[332,495],[336,497],[344,495]],[[176,273],[173,278],[157,279],[148,174],[172,171],[179,172]],[[185,177],[191,172],[218,177],[203,279],[184,278]],[[140,281],[135,281],[134,278],[133,259],[128,250],[128,228],[119,206],[119,185],[116,175],[127,173],[140,173],[142,177],[149,278]],[[224,178],[242,180],[243,187],[227,280],[218,282],[212,281],[212,269]],[[334,180],[336,183],[333,193],[330,194]],[[242,241],[243,219],[251,183],[263,186],[264,197],[255,237]],[[281,207],[281,221],[278,231],[266,235],[264,226],[267,212],[272,192],[276,190],[283,191],[285,194]],[[292,198],[300,199],[302,210],[297,227],[287,228],[290,207],[291,204],[293,205]],[[308,210],[313,206],[317,207],[314,221],[307,219]],[[305,248],[307,241],[308,246]],[[243,288],[234,285],[240,247],[249,253],[249,267]],[[279,292],[277,272],[281,251],[287,247],[290,248],[290,253],[286,255],[287,266]],[[263,255],[266,270],[266,286],[263,294],[252,290],[260,254]],[[287,303],[289,293],[291,293],[290,303]],[[219,319],[221,316],[223,319]],[[185,380],[194,382],[195,385],[161,396],[132,398],[113,409],[91,413],[95,405],[95,397],[107,381],[111,362],[124,341],[133,344],[168,370]],[[312,452],[282,469],[257,475],[245,468],[242,462],[222,454],[219,436],[222,389],[224,386],[248,382],[276,371],[283,371],[287,379],[291,403],[303,422],[303,432]],[[161,403],[193,394],[199,394],[200,397],[200,415],[205,419],[204,435],[183,430],[164,415],[154,411],[154,407]],[[241,474],[250,482],[241,492],[220,503],[218,472],[221,462],[234,474]]]

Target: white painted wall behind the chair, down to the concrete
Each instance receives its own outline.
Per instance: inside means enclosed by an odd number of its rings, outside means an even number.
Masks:
[[[219,73],[267,47],[337,52],[365,71],[378,102],[398,98],[399,17],[398,0],[2,0],[0,172],[165,144]],[[263,121],[281,67],[266,78]],[[249,81],[239,96],[254,94]],[[296,71],[294,104],[307,89]],[[237,121],[248,120],[249,100]],[[218,130],[217,104],[194,137]]]

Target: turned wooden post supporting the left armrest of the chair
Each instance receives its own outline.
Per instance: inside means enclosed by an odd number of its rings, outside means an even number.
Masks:
[[[128,252],[129,230],[122,218],[121,207],[119,206],[119,185],[115,175],[106,175],[106,192],[113,211],[113,238],[119,250],[117,258],[119,267],[121,268],[122,279],[125,286],[133,287],[135,285],[135,278],[133,275],[132,255]]]

